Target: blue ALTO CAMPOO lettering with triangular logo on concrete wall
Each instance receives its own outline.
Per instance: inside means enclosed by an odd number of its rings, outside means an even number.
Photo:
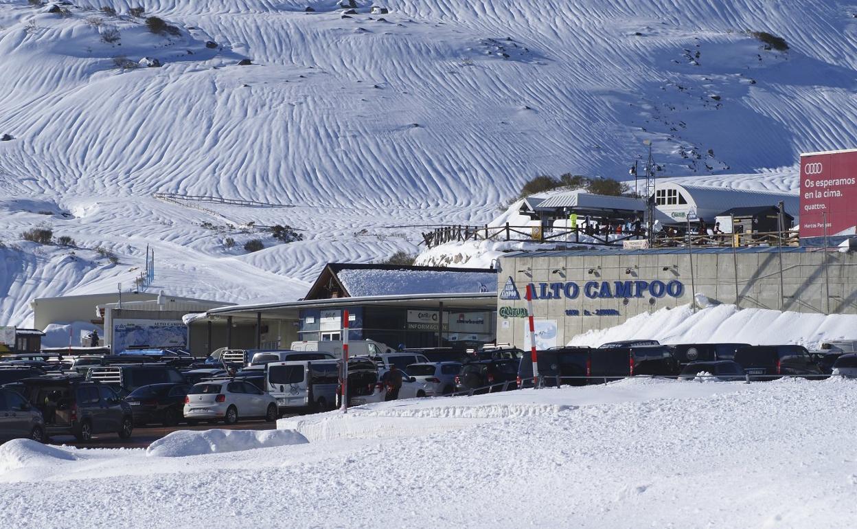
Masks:
[[[679,280],[671,281],[586,281],[583,285],[568,281],[566,283],[530,283],[533,301],[539,299],[577,299],[580,296],[590,299],[643,298],[646,294],[652,298],[680,298],[685,292],[684,284]],[[518,287],[510,276],[500,291],[500,299],[507,301],[521,299]]]

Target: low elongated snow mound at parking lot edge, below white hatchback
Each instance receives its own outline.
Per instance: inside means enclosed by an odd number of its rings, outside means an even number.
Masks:
[[[153,442],[148,456],[184,457],[306,443],[295,430],[180,430]]]

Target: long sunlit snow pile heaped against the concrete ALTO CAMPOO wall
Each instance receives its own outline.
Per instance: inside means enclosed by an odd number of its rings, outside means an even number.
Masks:
[[[704,303],[704,297],[698,298]],[[569,346],[597,347],[609,341],[658,340],[662,344],[737,342],[753,346],[796,344],[815,349],[823,340],[857,339],[857,316],[743,309],[722,304],[694,312],[691,306],[640,314],[612,328],[592,330]]]

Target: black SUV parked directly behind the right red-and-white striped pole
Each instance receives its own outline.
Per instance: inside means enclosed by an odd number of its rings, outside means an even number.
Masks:
[[[590,347],[557,347],[546,351],[537,351],[538,374],[545,386],[556,386],[556,377],[560,377],[560,385],[584,386],[587,370],[590,364]],[[518,365],[518,388],[532,388],[533,359],[524,355]],[[570,378],[564,378],[570,377]]]

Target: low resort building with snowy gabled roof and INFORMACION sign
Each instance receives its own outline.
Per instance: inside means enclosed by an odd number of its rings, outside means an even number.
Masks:
[[[186,320],[193,333],[206,329],[203,348],[211,351],[342,340],[345,310],[350,340],[472,347],[494,341],[496,284],[493,269],[331,263],[301,300],[221,307]]]

